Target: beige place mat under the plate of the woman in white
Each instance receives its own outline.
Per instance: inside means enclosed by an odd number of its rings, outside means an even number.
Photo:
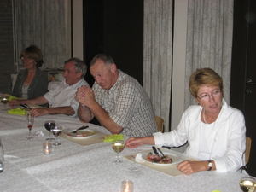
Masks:
[[[165,148],[160,148],[162,150],[162,152],[165,154],[168,153],[168,152],[172,152],[173,150],[167,150]],[[147,150],[147,151],[143,151],[141,152],[141,154],[143,153],[147,153],[149,151],[152,151],[152,150]],[[175,153],[178,153],[177,151],[175,151]],[[127,160],[131,160],[137,164],[140,164],[142,166],[147,166],[148,168],[151,168],[151,169],[154,169],[155,171],[158,171],[158,172],[163,172],[165,173],[166,175],[170,175],[172,177],[177,177],[179,175],[182,175],[183,172],[180,172],[178,169],[177,169],[177,164],[172,164],[172,165],[156,165],[154,163],[150,163],[148,161],[146,162],[142,162],[142,163],[138,163],[136,160],[135,160],[135,157],[136,157],[137,154],[131,154],[131,155],[127,155],[125,156],[125,158]],[[182,154],[183,155],[183,154]],[[185,155],[183,155],[183,158],[184,160],[195,160],[195,159],[192,159],[192,158],[189,158]]]

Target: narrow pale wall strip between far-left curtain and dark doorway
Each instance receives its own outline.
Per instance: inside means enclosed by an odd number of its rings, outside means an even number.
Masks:
[[[84,60],[83,0],[73,1],[73,57]]]

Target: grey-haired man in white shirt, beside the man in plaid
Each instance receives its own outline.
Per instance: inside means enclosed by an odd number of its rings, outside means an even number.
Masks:
[[[49,103],[50,108],[32,108],[30,113],[34,117],[44,114],[67,114],[73,117],[77,116],[79,102],[75,99],[75,93],[82,85],[90,87],[84,80],[87,67],[84,61],[78,58],[71,58],[65,61],[64,80],[56,86],[54,90],[49,90],[44,96],[28,100],[12,100],[9,106],[20,104],[43,105]]]

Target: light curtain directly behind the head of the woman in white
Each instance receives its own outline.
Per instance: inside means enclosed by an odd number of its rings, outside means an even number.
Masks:
[[[224,99],[230,102],[233,0],[189,0],[185,108],[195,104],[188,90],[197,68],[211,67],[224,81]]]

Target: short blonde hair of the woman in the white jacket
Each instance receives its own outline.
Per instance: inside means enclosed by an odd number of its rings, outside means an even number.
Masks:
[[[191,74],[189,78],[189,91],[197,97],[201,85],[218,86],[223,95],[223,80],[211,68],[200,68]]]

